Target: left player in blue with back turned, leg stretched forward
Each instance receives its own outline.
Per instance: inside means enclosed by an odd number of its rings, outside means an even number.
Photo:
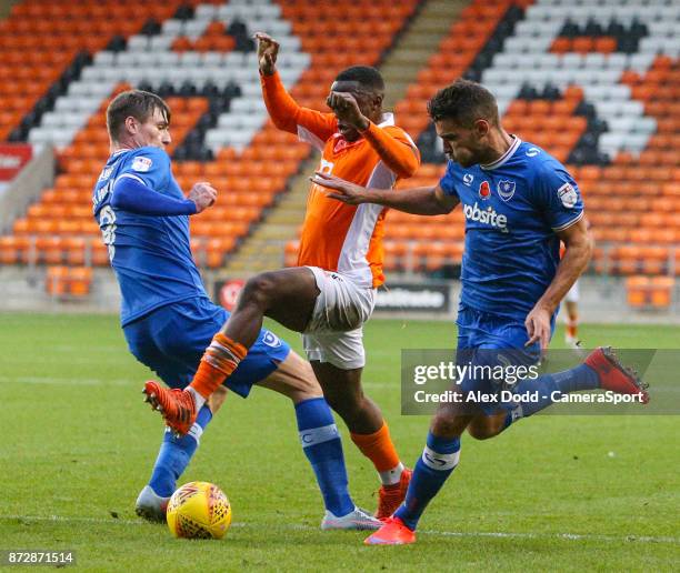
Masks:
[[[208,298],[189,239],[189,217],[212,205],[217,191],[196,183],[186,198],[177,184],[164,151],[170,109],[158,96],[119,94],[107,110],[107,125],[111,157],[94,187],[93,212],[122,294],[121,325],[132,354],[169,386],[182,389],[229,318]],[[349,495],[340,435],[311,366],[267,330],[227,381],[243,398],[253,384],[294,404],[300,441],[326,505],[321,529],[380,526]],[[151,480],[137,500],[138,514],[164,520],[177,480],[224,394],[203,405],[188,434],[166,431]]]

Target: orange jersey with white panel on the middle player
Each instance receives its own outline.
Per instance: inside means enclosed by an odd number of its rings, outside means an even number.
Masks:
[[[349,142],[338,132],[333,113],[300,108],[278,74],[262,77],[262,89],[274,124],[322,152],[319,171],[362,187],[389,189],[398,178],[411,177],[420,164],[418,148],[394,125],[391,113]],[[327,189],[312,183],[298,264],[341,272],[367,288],[379,286],[384,282],[384,212],[386,208],[377,204],[348,205],[329,199]]]

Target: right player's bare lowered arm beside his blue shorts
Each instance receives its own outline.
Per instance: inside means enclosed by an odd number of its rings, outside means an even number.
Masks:
[[[584,218],[579,219],[567,229],[558,231],[557,234],[564,243],[564,257],[558,265],[554,279],[552,279],[524,322],[529,334],[527,345],[538,341],[542,350],[546,350],[550,342],[550,319],[552,314],[569,289],[588,267],[593,250],[592,239],[588,232]]]

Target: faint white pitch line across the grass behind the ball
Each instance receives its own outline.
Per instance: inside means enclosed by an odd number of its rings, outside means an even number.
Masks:
[[[0,520],[26,520],[43,522],[73,522],[73,523],[102,523],[122,525],[150,525],[142,520],[121,520],[119,517],[64,517],[61,515],[0,515]],[[152,524],[151,524],[152,525]],[[232,527],[261,527],[260,523],[234,522]],[[280,524],[276,527],[286,530],[320,531],[318,527],[302,524]],[[491,537],[511,540],[558,540],[558,541],[608,541],[608,542],[640,542],[640,543],[673,543],[680,544],[680,537],[656,536],[656,535],[599,535],[589,533],[533,533],[533,532],[500,532],[500,531],[436,531],[422,530],[419,533],[426,535],[438,535],[443,537]],[[368,534],[368,532],[367,532]]]

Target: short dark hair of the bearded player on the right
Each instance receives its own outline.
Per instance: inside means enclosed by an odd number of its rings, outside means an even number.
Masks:
[[[456,80],[451,86],[439,90],[428,102],[428,113],[432,121],[452,119],[463,127],[471,127],[478,119],[498,125],[498,104],[493,94],[480,83]]]

